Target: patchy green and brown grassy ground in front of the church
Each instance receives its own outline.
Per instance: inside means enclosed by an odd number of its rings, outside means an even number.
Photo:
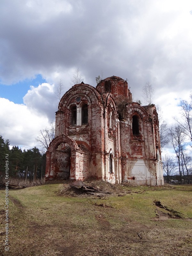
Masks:
[[[68,184],[0,191],[0,255],[191,256],[192,186],[95,182],[111,195],[76,195]]]

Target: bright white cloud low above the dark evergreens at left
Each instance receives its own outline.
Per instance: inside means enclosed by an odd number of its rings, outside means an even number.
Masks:
[[[4,98],[0,98],[0,109],[1,135],[9,139],[12,146],[18,146],[19,142],[22,148],[34,147],[39,131],[49,124],[47,117]]]

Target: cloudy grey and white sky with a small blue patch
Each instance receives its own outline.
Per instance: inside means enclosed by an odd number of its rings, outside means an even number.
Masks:
[[[0,135],[32,148],[55,117],[55,91],[79,68],[128,79],[134,99],[151,83],[172,123],[192,90],[191,0],[0,1]]]

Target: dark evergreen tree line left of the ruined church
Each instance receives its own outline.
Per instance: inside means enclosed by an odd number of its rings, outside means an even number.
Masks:
[[[36,180],[44,177],[46,157],[39,149],[34,147],[21,150],[18,146],[9,148],[10,141],[4,140],[0,135],[0,179],[5,177],[5,161],[8,155],[9,177]]]

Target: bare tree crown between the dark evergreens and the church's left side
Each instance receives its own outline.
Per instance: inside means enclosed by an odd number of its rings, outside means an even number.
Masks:
[[[50,142],[55,138],[55,122],[52,121],[49,127],[40,130],[39,136],[36,137],[38,145],[41,147],[42,153],[46,152]]]

